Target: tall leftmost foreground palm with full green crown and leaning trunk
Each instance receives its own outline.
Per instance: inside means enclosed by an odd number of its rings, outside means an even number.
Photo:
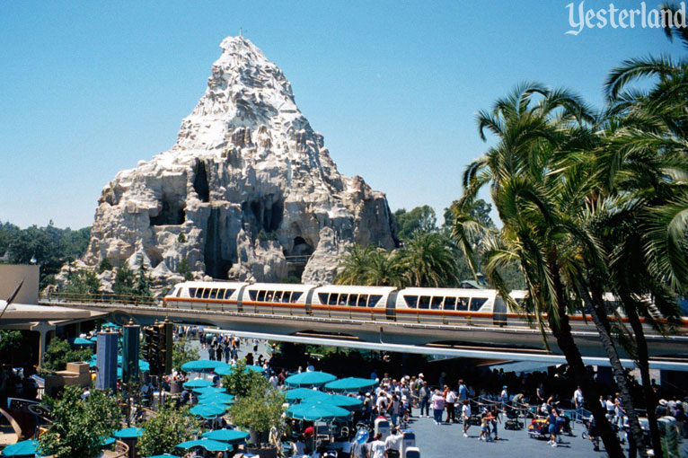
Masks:
[[[540,97],[537,102],[536,96]],[[519,305],[509,298],[499,269],[514,260],[520,263],[529,293],[523,311],[532,313],[543,338],[546,323],[590,400],[597,399],[599,391],[587,375],[573,339],[569,313],[580,307],[578,286],[587,285],[581,251],[590,251],[595,266],[601,264],[595,243],[580,226],[582,202],[593,183],[585,173],[587,164],[581,152],[595,145],[594,122],[595,117],[577,96],[539,84],[516,88],[498,100],[492,111],[481,111],[481,137],[485,139],[484,132],[489,130],[498,137],[498,145],[464,172],[463,196],[454,207],[453,229],[473,269],[477,262],[472,234],[489,233],[482,247],[485,272],[516,310]],[[573,166],[577,160],[582,165]],[[503,223],[498,230],[489,231],[471,215],[479,190],[487,186]],[[615,353],[611,339],[604,339],[603,344]],[[621,385],[623,380],[617,382]],[[621,446],[604,410],[595,401],[589,408],[602,429],[607,453],[621,457]]]

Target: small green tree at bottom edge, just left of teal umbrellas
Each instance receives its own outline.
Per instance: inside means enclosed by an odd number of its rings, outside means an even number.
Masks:
[[[144,425],[144,433],[138,438],[140,456],[174,453],[174,446],[193,439],[198,434],[200,422],[190,414],[189,408],[177,409],[168,402]]]

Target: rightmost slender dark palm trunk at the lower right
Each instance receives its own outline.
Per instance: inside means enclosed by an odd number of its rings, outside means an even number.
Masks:
[[[625,310],[636,339],[636,357],[638,357],[637,363],[640,370],[642,392],[645,398],[645,409],[648,414],[652,450],[655,453],[655,458],[663,458],[664,454],[662,452],[661,438],[659,436],[659,426],[657,425],[657,412],[655,411],[657,408],[657,396],[655,396],[655,392],[652,389],[652,380],[649,376],[648,341],[645,339],[645,331],[642,329],[642,323],[640,322],[635,307],[632,305],[631,298],[622,295],[622,301],[625,304],[629,304]]]

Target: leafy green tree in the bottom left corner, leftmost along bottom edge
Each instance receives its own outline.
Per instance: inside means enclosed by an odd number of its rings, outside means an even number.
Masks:
[[[103,437],[119,429],[119,401],[109,392],[93,390],[81,399],[81,388],[66,386],[59,400],[44,399],[53,422],[39,437],[43,454],[56,458],[93,458],[101,453]]]

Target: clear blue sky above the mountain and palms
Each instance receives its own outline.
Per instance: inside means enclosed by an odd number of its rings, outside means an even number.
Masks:
[[[567,4],[5,2],[0,221],[91,225],[119,170],[174,144],[220,41],[240,28],[287,75],[340,172],[363,176],[393,209],[429,204],[441,219],[486,148],[477,110],[524,81],[599,105],[623,59],[684,54],[657,29],[567,35]]]

